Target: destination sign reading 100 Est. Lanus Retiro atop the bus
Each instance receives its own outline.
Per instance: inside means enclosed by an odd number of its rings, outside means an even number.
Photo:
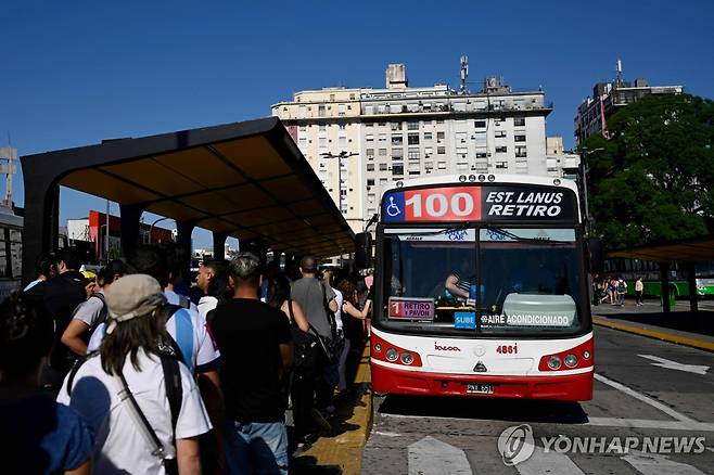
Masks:
[[[439,187],[384,195],[384,222],[573,220],[575,195],[564,188]]]

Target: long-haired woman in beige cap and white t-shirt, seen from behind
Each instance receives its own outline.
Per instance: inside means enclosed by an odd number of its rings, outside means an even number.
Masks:
[[[160,342],[168,342],[158,309],[158,282],[127,275],[106,290],[106,336],[65,378],[58,401],[78,411],[97,434],[94,471],[102,474],[200,474],[197,436],[212,426],[188,368],[180,362],[180,407],[173,420]],[[165,357],[164,357],[165,358]],[[124,382],[122,382],[124,378]],[[128,389],[127,389],[128,388]],[[163,448],[157,455],[146,425],[138,422],[129,393]]]

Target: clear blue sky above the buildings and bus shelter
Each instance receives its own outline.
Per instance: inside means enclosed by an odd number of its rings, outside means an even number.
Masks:
[[[471,80],[541,86],[547,133],[572,146],[577,105],[617,57],[626,79],[714,98],[712,17],[705,0],[1,0],[0,146],[26,155],[268,116],[297,90],[383,87],[387,63],[406,63],[412,86],[457,87],[461,54]],[[90,208],[104,203],[63,190],[61,224]]]

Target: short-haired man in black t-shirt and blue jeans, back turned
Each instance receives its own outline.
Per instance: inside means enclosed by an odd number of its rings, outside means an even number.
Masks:
[[[290,324],[258,299],[260,261],[239,253],[230,261],[231,300],[209,316],[222,356],[226,460],[231,473],[288,473],[282,377],[292,363]]]

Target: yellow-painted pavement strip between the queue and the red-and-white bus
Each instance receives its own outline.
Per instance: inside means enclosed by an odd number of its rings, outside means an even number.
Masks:
[[[369,342],[365,346],[354,394],[337,405],[332,420],[333,434],[320,437],[293,460],[291,474],[359,474],[362,448],[372,424],[372,393],[370,389]]]

